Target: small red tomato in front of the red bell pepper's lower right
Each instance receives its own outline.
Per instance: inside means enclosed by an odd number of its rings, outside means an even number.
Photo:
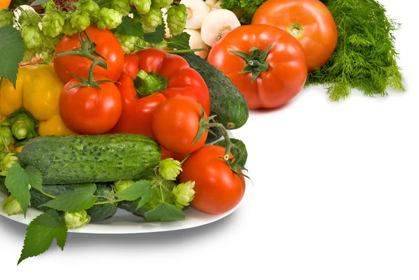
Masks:
[[[154,111],[152,133],[161,146],[176,154],[189,154],[205,145],[208,131],[193,143],[200,128],[201,110],[196,101],[184,96],[167,98]],[[204,112],[204,119],[207,114]]]

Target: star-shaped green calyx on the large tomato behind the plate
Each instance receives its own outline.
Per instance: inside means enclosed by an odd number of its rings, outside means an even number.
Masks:
[[[242,57],[244,61],[246,61],[246,66],[243,68],[243,70],[240,72],[242,73],[252,73],[251,75],[251,83],[258,78],[260,73],[265,72],[269,69],[269,64],[266,62],[267,53],[270,50],[271,45],[268,45],[263,52],[260,52],[260,50],[257,47],[252,47],[249,50],[249,53],[247,52],[240,52],[238,50],[229,50],[229,52],[232,52],[233,54],[237,54],[239,57]]]

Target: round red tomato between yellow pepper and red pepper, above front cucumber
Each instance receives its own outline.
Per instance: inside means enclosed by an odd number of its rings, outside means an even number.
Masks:
[[[105,80],[96,77],[95,80]],[[80,80],[73,78],[59,96],[59,112],[64,124],[78,134],[102,134],[109,131],[122,112],[121,94],[112,82],[93,87],[75,87]]]

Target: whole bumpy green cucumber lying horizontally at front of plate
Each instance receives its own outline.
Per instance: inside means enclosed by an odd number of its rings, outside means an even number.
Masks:
[[[43,184],[116,182],[151,174],[161,149],[138,134],[47,135],[29,140],[18,159],[37,168]]]

